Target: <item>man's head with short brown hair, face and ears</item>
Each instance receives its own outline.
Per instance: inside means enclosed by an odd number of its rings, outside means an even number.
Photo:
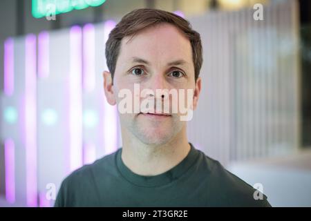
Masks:
[[[140,102],[146,99],[170,102],[169,114],[153,115],[142,111],[120,114],[122,133],[153,145],[165,144],[181,132],[185,135],[180,104],[176,104],[178,113],[172,113],[171,106],[180,101],[187,104],[187,90],[192,90],[191,109],[196,108],[202,66],[200,35],[191,29],[188,21],[162,10],[134,10],[111,31],[106,42],[106,61],[110,73],[104,72],[104,88],[109,104],[120,104],[119,95],[124,90],[132,92],[131,99],[135,102],[135,85],[139,85],[140,90],[154,91],[151,98],[138,97]],[[184,90],[185,97],[178,94],[177,101],[172,100],[171,94],[156,95],[157,89],[178,93]]]

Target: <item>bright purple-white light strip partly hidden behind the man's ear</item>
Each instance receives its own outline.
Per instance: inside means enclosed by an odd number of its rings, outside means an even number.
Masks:
[[[115,27],[115,21],[109,20],[104,23],[104,42],[109,38],[109,33]],[[108,69],[106,69],[108,70]],[[104,148],[105,154],[117,150],[117,108],[104,102]]]

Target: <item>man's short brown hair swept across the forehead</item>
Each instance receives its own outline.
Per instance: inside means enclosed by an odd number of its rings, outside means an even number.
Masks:
[[[189,39],[192,48],[192,59],[194,61],[194,76],[198,79],[202,66],[202,44],[200,34],[192,30],[189,21],[164,10],[140,8],[129,12],[122,17],[117,26],[111,30],[106,42],[106,62],[113,77],[115,65],[120,52],[121,41],[124,37],[133,36],[140,30],[156,26],[159,23],[170,23],[179,28]]]

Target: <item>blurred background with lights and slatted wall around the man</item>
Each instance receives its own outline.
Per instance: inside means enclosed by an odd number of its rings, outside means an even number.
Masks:
[[[0,206],[53,206],[66,175],[122,146],[104,47],[135,8],[200,32],[189,141],[272,206],[311,206],[308,0],[1,0]]]

